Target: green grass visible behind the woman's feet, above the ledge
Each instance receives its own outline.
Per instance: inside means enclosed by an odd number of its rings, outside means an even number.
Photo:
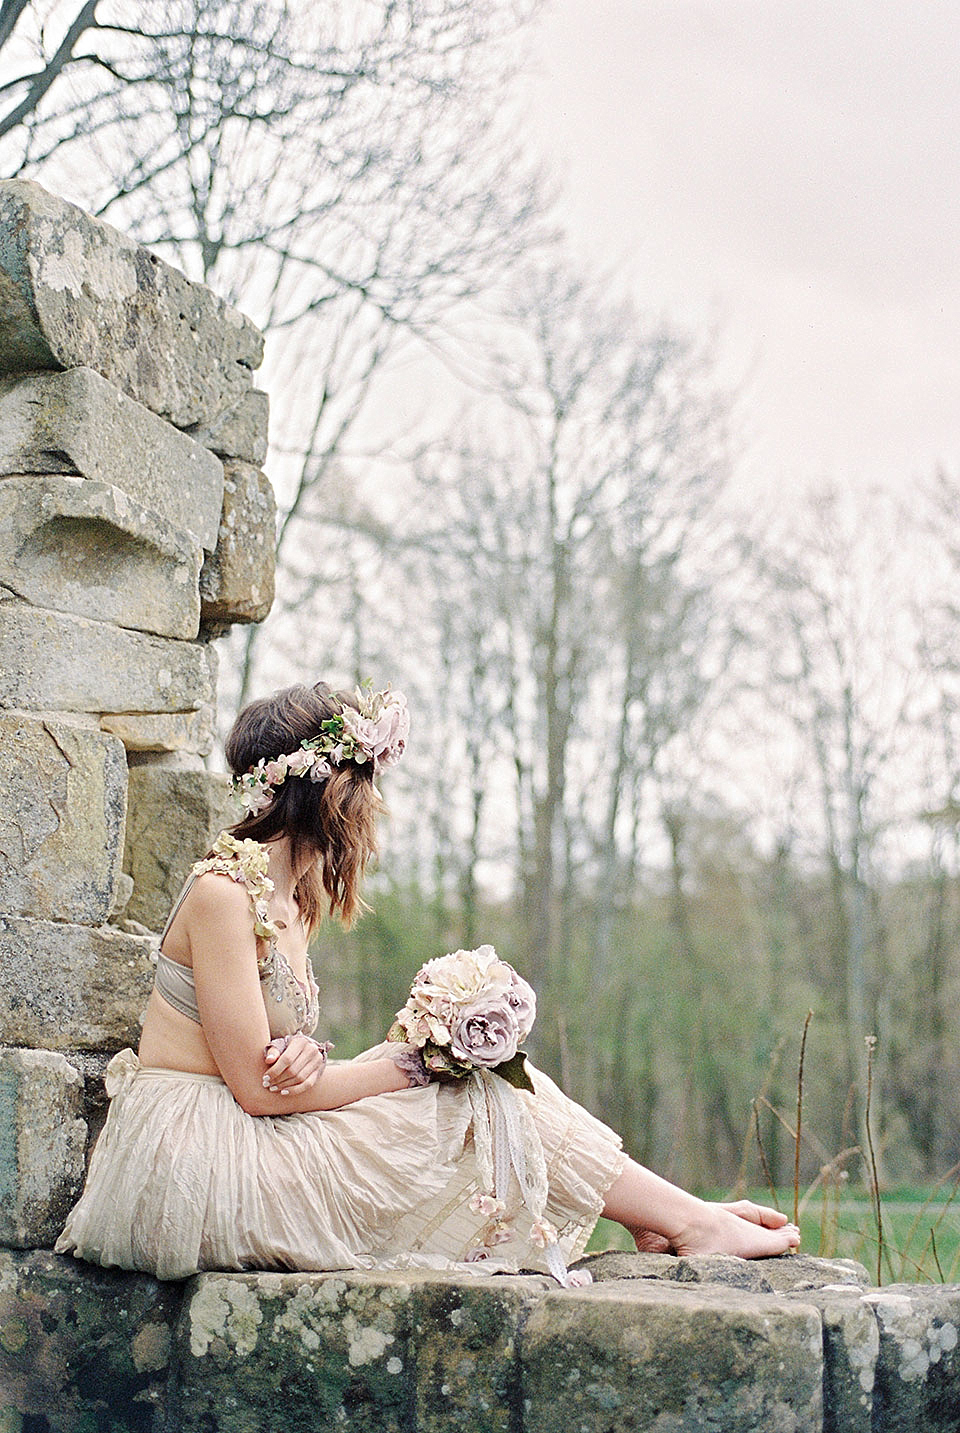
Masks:
[[[960,1195],[953,1187],[896,1189],[880,1202],[883,1224],[883,1267],[880,1283],[960,1283]],[[769,1204],[769,1192],[749,1197]],[[781,1191],[779,1208],[792,1215],[792,1191]],[[824,1258],[855,1258],[877,1280],[877,1221],[870,1195],[844,1189],[825,1198],[820,1194],[801,1204],[801,1252]],[[633,1242],[619,1224],[600,1219],[587,1245],[597,1250],[632,1250]]]

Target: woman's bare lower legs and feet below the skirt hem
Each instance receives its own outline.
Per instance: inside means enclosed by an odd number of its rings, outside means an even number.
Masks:
[[[748,1199],[709,1204],[632,1159],[608,1191],[603,1214],[628,1228],[643,1252],[769,1258],[800,1244],[785,1214]]]

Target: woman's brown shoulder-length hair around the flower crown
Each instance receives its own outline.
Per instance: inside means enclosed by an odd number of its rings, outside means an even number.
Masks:
[[[327,682],[287,686],[272,696],[249,702],[226,738],[226,761],[236,775],[262,758],[271,761],[297,751],[301,741],[320,732],[320,724],[344,706],[357,708],[350,692],[335,692]],[[254,841],[289,837],[297,870],[309,861],[294,896],[309,933],[324,919],[324,906],[344,926],[364,910],[360,883],[377,854],[377,817],[383,801],[374,787],[373,762],[345,761],[325,781],[294,777],[274,788],[274,800],[258,815],[245,815],[231,827],[234,835]]]

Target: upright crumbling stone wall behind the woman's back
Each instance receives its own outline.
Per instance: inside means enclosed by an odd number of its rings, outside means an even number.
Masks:
[[[155,933],[235,818],[211,638],[274,590],[262,340],[37,185],[0,183],[0,1242],[49,1245]],[[3,1426],[0,1423],[0,1426]]]

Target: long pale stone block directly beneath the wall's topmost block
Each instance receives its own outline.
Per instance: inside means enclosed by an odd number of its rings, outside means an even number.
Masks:
[[[119,487],[212,552],[224,466],[92,368],[0,383],[0,473],[79,473]]]

